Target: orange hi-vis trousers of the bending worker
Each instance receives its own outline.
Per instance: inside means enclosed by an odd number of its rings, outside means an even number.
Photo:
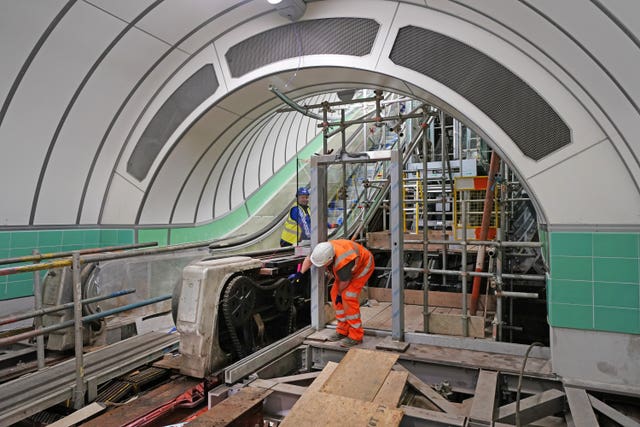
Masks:
[[[338,286],[334,284],[331,287],[331,302],[333,302],[333,307],[336,309],[336,320],[338,321],[336,332],[355,341],[362,341],[364,336],[358,298],[371,274],[373,274],[373,268],[364,277],[353,279],[349,282],[349,285],[342,291],[342,303],[336,303]]]

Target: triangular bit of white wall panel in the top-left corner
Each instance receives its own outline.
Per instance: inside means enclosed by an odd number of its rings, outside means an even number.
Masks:
[[[0,4],[0,107],[38,39],[65,4],[66,0]]]

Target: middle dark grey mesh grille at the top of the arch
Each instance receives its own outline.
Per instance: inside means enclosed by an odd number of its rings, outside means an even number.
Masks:
[[[232,46],[225,57],[233,77],[302,55],[364,56],[380,25],[365,18],[328,18],[283,25]]]

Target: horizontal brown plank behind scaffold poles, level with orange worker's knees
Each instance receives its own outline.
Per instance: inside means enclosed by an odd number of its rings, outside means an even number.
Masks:
[[[369,288],[369,298],[379,302],[391,302],[390,288]],[[412,305],[423,305],[424,292],[416,289],[404,290],[404,303]],[[467,295],[467,307],[471,304],[471,294]],[[478,310],[484,310],[488,304],[487,311],[496,310],[496,297],[481,295],[478,300]],[[429,291],[429,307],[450,307],[462,308],[462,294],[459,292]]]

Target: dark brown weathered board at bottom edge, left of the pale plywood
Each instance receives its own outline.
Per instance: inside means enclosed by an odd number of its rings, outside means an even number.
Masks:
[[[271,394],[271,390],[257,387],[241,388],[204,414],[189,422],[189,427],[222,427],[239,422],[243,417],[252,416],[262,406],[262,401]],[[251,418],[253,420],[253,417]],[[253,424],[252,424],[253,425]]]

